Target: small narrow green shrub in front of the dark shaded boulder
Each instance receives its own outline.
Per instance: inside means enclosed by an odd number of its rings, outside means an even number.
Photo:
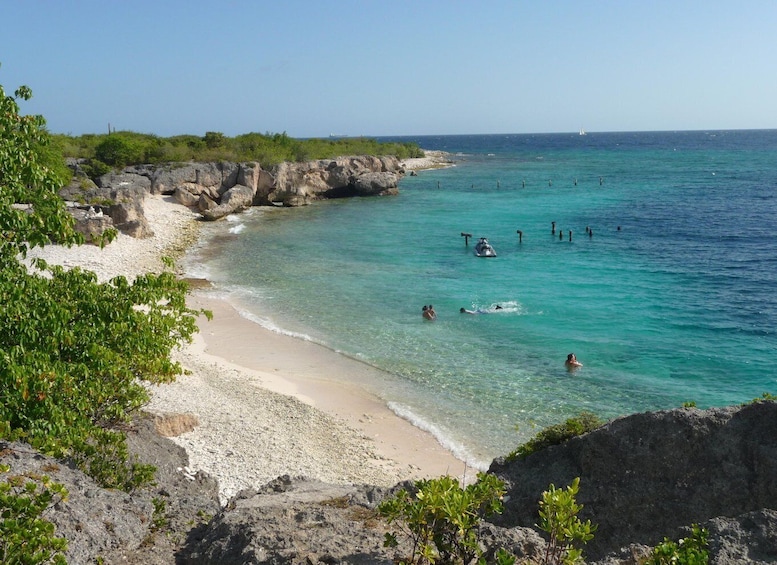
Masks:
[[[590,520],[580,521],[578,513],[583,506],[575,497],[580,487],[580,478],[563,489],[550,485],[540,500],[540,523],[537,526],[549,535],[543,565],[573,565],[583,562],[583,551],[575,543],[588,543],[593,539],[597,526]]]

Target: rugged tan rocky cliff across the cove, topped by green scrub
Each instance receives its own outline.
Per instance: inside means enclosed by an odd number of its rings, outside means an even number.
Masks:
[[[205,220],[217,220],[251,206],[304,206],[315,200],[398,193],[405,169],[396,157],[338,157],[305,163],[281,163],[266,171],[259,163],[171,163],[137,165],[92,182],[79,174],[60,194],[103,214],[102,228],[114,225],[133,237],[153,235],[143,221],[141,202],[148,194],[174,195],[196,208]],[[110,218],[112,222],[107,219]],[[93,220],[79,226],[87,235],[99,227]]]

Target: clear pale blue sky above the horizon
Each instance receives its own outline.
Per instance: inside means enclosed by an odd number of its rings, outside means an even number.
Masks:
[[[0,0],[56,133],[777,128],[774,0]]]

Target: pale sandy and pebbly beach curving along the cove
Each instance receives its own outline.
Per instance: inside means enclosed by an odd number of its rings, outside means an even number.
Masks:
[[[149,196],[144,207],[152,238],[120,234],[103,250],[47,246],[29,256],[81,266],[101,281],[159,272],[160,257],[196,240],[197,214],[170,197]],[[431,434],[346,384],[372,367],[262,328],[208,289],[193,291],[189,303],[211,310],[213,320],[202,317],[194,342],[174,352],[188,374],[152,387],[147,410],[196,418],[192,431],[171,439],[189,454],[182,472],[215,476],[222,503],[281,475],[385,486],[444,474],[474,478]]]

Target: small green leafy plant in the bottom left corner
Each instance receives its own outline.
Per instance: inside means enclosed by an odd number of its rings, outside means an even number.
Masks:
[[[8,471],[0,465],[0,473]],[[0,563],[66,563],[67,540],[55,537],[54,524],[41,516],[67,495],[46,476],[9,476],[0,482]]]

